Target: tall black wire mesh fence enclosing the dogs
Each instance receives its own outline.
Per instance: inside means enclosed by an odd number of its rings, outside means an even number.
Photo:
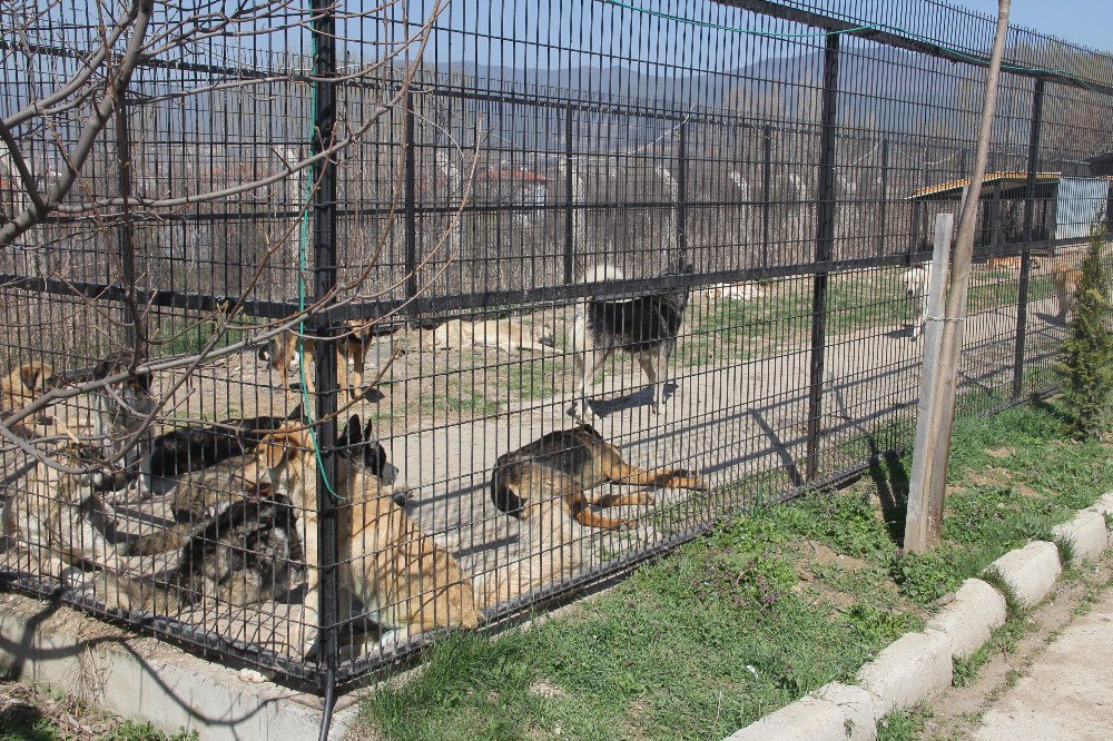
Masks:
[[[6,17],[6,577],[347,683],[909,445],[992,22],[687,4]],[[967,414],[1113,204],[1113,59],[1005,69]]]

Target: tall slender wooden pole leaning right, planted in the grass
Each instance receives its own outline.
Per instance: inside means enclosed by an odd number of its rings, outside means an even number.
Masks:
[[[909,482],[904,541],[906,551],[926,551],[938,544],[943,536],[947,458],[951,453],[951,433],[955,423],[955,395],[958,387],[958,364],[962,359],[966,299],[969,295],[971,261],[974,257],[974,231],[982,200],[982,184],[985,181],[985,166],[989,156],[993,117],[997,109],[997,82],[1001,78],[1001,59],[1005,51],[1005,36],[1008,32],[1009,4],[1011,0],[998,0],[997,31],[993,39],[989,68],[986,71],[985,102],[982,106],[982,120],[978,127],[977,152],[967,191],[969,197],[963,204],[958,220],[958,238],[951,265],[946,314],[943,317],[928,316],[928,328],[933,324],[942,324],[938,329],[940,335],[938,367],[929,372],[930,378],[925,378],[925,382],[932,383],[928,395],[930,408],[920,411],[922,418],[917,423],[917,448],[913,454],[913,471],[915,472],[917,467],[924,471],[919,482]],[[925,359],[927,359],[926,354]],[[926,367],[925,374],[928,374]],[[923,419],[925,412],[928,415],[926,421]],[[929,442],[925,448],[919,447],[920,425],[927,426],[925,439]]]

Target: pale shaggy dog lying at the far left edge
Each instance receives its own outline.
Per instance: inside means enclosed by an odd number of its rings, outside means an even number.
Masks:
[[[96,451],[70,443],[51,453],[57,462],[88,473],[66,473],[40,462],[4,503],[2,533],[30,552],[31,566],[61,579],[69,566],[116,569],[110,537],[115,518],[97,491]]]

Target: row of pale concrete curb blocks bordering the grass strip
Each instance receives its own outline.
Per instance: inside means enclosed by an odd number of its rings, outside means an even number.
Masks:
[[[1075,559],[1095,560],[1111,544],[1106,514],[1113,516],[1113,492],[1055,527],[1055,539],[1068,543]],[[1035,541],[1009,551],[986,572],[995,573],[1022,605],[1031,607],[1047,596],[1063,567],[1054,543]],[[857,686],[827,684],[725,741],[876,739],[876,723],[889,712],[915,705],[949,686],[952,660],[969,656],[985,645],[1005,616],[1005,596],[982,580],[968,579],[923,633],[906,633],[863,666]],[[864,703],[863,693],[868,703]]]

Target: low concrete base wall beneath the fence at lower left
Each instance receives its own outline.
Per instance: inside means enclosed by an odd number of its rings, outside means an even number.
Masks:
[[[168,733],[196,730],[206,741],[315,739],[321,727],[319,698],[22,595],[0,596],[0,669]],[[331,738],[355,719],[356,700],[342,700]]]

